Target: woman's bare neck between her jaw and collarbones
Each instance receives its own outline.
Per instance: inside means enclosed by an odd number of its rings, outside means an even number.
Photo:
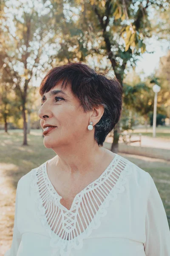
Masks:
[[[106,149],[99,147],[97,143],[77,142],[77,145],[64,145],[54,149],[57,154],[54,157],[54,168],[60,170],[67,176],[85,175],[89,170],[93,170],[96,163],[104,160]]]

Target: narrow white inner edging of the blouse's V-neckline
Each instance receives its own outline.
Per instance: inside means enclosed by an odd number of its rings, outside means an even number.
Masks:
[[[85,191],[88,190],[88,188],[91,188],[95,183],[97,183],[102,177],[106,176],[106,173],[108,172],[108,169],[111,167],[111,165],[113,164],[113,162],[119,158],[119,155],[114,153],[115,156],[114,158],[111,160],[111,163],[109,163],[109,165],[106,167],[106,169],[104,170],[104,172],[102,172],[102,174],[94,181],[92,181],[91,183],[89,183],[87,186],[85,186],[84,189],[82,189],[79,193],[77,193],[77,195],[75,195],[73,202],[71,204],[71,208],[67,209],[65,206],[63,206],[60,203],[60,200],[62,199],[62,196],[59,195],[59,193],[57,192],[57,190],[54,188],[53,184],[51,183],[51,180],[48,176],[48,172],[47,172],[47,163],[49,160],[47,160],[44,164],[43,164],[43,174],[45,174],[45,178],[48,180],[48,186],[50,186],[50,190],[53,192],[53,195],[57,198],[57,203],[59,204],[59,207],[61,209],[63,209],[65,212],[72,212],[74,205],[75,205],[75,201],[78,201],[79,198],[81,197],[81,195],[83,195],[85,193]]]

